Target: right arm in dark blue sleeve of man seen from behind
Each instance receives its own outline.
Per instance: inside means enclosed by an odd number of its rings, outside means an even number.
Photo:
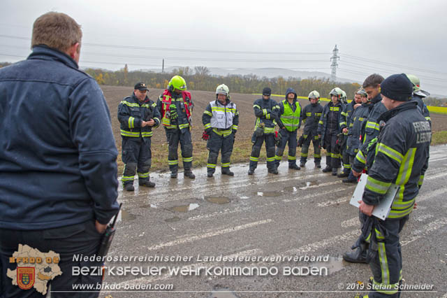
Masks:
[[[71,139],[78,148],[80,173],[93,201],[95,218],[106,225],[118,212],[118,152],[108,106],[92,78],[76,85],[69,99]]]

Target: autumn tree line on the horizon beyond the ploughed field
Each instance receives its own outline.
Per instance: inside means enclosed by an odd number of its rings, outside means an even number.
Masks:
[[[9,62],[0,62],[0,68],[8,66]],[[214,91],[220,84],[230,87],[230,92],[235,93],[261,93],[263,87],[272,88],[273,94],[285,94],[287,88],[295,89],[299,96],[307,96],[312,90],[320,92],[321,97],[328,97],[330,90],[340,87],[344,90],[349,99],[360,88],[358,83],[330,83],[328,78],[267,78],[256,76],[256,73],[249,75],[213,76],[205,66],[179,67],[170,73],[155,73],[152,71],[129,71],[127,64],[119,71],[109,71],[105,69],[85,69],[90,76],[96,79],[99,85],[127,86],[132,87],[137,82],[144,82],[151,88],[166,88],[170,78],[174,75],[184,77],[189,90]],[[437,99],[427,97],[424,99],[427,106],[446,106],[447,99]]]

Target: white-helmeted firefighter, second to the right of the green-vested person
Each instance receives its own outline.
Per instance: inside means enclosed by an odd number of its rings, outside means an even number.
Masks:
[[[332,176],[337,176],[338,168],[341,166],[338,137],[342,132],[342,129],[340,129],[344,108],[344,104],[341,102],[342,94],[343,92],[339,87],[330,91],[331,101],[324,106],[317,129],[323,148],[326,149],[326,167],[323,172],[332,171]]]

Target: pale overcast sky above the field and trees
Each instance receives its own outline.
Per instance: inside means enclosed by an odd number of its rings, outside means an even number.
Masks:
[[[50,10],[83,30],[80,66],[279,67],[362,82],[370,73],[413,73],[447,95],[446,1],[2,0],[0,62],[29,55],[31,28]]]

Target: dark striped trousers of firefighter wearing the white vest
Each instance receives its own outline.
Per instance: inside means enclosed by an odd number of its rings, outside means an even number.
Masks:
[[[221,171],[230,171],[230,157],[233,152],[234,134],[228,136],[219,136],[215,132],[211,132],[210,139],[207,141],[208,162],[207,173],[216,171],[217,157],[219,150],[221,151]]]

